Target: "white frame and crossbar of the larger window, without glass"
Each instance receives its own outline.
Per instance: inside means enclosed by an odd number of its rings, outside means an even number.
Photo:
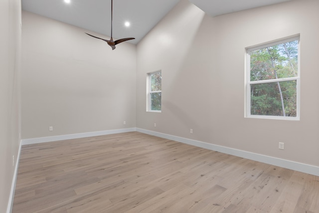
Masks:
[[[288,78],[279,78],[279,79],[268,79],[268,80],[259,80],[259,81],[251,81],[250,80],[250,52],[262,49],[282,43],[287,43],[290,41],[298,41],[298,76],[296,77],[288,77]],[[275,41],[270,41],[264,44],[255,45],[252,47],[246,48],[246,86],[245,86],[245,118],[260,118],[260,119],[276,119],[276,120],[300,120],[300,35],[294,35],[286,38],[281,38]],[[277,115],[252,115],[251,114],[251,85],[253,84],[261,84],[261,83],[277,83],[277,82],[283,82],[283,81],[296,81],[296,117],[292,116],[277,116]]]

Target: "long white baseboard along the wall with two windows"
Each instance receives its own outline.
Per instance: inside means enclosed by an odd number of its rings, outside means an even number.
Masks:
[[[250,159],[250,160],[254,160],[254,161],[258,161],[258,162],[262,162],[266,164],[271,164],[274,166],[279,166],[279,167],[319,176],[319,167],[313,166],[313,165],[298,163],[298,162],[289,161],[289,160],[280,159],[280,158],[274,158],[274,157],[270,157],[266,155],[260,155],[256,153],[246,152],[246,151],[232,149],[232,148],[223,147],[223,146],[214,145],[214,144],[209,144],[209,143],[205,143],[201,141],[195,141],[195,140],[191,140],[187,138],[181,138],[181,137],[177,137],[173,135],[167,135],[167,134],[140,129],[140,128],[136,128],[136,131],[145,133],[148,135],[154,135],[161,138],[181,142],[184,144],[193,145],[196,147],[201,147],[201,148],[205,148],[205,149],[209,149],[209,150],[213,150],[213,151],[217,151],[217,152],[221,152],[221,153],[225,153],[229,155],[234,155],[241,158],[246,158],[246,159]]]

